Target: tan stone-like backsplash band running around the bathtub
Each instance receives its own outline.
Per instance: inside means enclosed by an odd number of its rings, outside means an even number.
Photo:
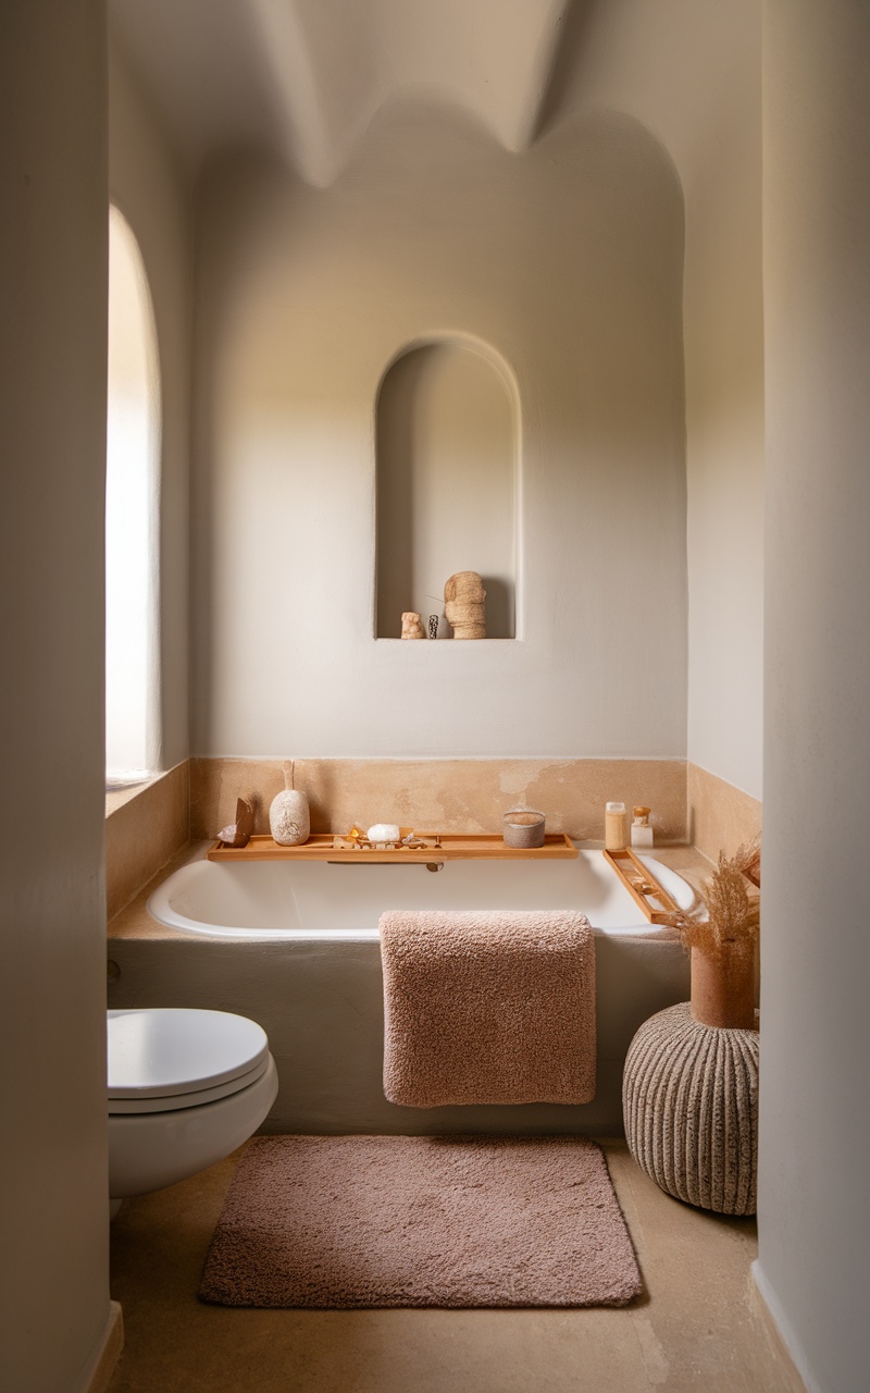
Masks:
[[[128,797],[106,818],[111,919],[188,841],[213,839],[239,794],[255,794],[256,830],[284,787],[281,759],[193,758]],[[761,804],[682,759],[298,759],[312,830],[397,820],[430,832],[493,832],[508,808],[547,814],[551,832],[604,836],[604,804],[649,804],[657,846],[689,843],[715,859],[761,826]]]

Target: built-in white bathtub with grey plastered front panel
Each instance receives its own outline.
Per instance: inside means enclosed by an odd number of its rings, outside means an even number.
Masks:
[[[654,866],[683,904],[690,890]],[[688,957],[606,864],[209,862],[205,848],[149,900],[150,928],[110,942],[110,1004],[202,1006],[259,1021],[278,1067],[276,1133],[622,1133],[622,1066],[654,1011],[686,1000]],[[377,919],[387,908],[579,908],[594,928],[597,1092],[592,1103],[412,1109],[383,1095]]]

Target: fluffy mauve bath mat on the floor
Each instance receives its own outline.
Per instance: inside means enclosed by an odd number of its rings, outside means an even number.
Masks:
[[[234,1307],[625,1305],[640,1273],[585,1137],[258,1137],[199,1295]]]

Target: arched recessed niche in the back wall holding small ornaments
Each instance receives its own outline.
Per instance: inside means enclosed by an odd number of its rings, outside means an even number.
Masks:
[[[376,404],[376,638],[402,612],[444,620],[444,582],[477,571],[487,639],[518,635],[519,393],[489,345],[418,340],[388,364]]]

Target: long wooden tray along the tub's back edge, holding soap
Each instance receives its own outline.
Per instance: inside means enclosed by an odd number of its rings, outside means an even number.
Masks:
[[[361,865],[387,862],[401,865],[427,861],[568,861],[578,855],[571,837],[564,832],[548,832],[543,847],[518,850],[505,847],[494,832],[461,836],[452,832],[420,832],[425,847],[400,847],[395,851],[361,848],[354,851],[335,847],[335,840],[347,840],[340,833],[315,832],[301,847],[280,847],[271,837],[252,837],[246,847],[226,847],[216,841],[209,848],[209,861],[354,861]]]

